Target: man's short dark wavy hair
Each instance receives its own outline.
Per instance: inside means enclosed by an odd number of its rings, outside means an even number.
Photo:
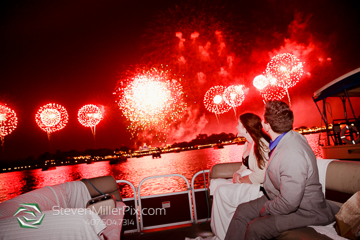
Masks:
[[[268,101],[264,107],[264,121],[275,133],[283,134],[293,129],[294,113],[284,102]]]

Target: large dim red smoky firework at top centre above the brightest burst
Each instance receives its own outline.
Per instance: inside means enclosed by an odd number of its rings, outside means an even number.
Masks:
[[[142,60],[171,66],[176,76],[186,79],[181,84],[187,103],[200,102],[204,97],[199,95],[200,88],[236,78],[241,26],[231,23],[235,18],[223,5],[181,3],[154,17],[143,39],[146,55]]]

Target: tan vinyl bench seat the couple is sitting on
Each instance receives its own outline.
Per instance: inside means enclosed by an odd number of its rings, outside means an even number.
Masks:
[[[241,164],[241,162],[229,162],[213,165],[209,172],[209,182],[215,178],[232,178],[241,168]],[[360,191],[360,161],[331,161],[326,170],[325,188],[325,198],[341,207],[353,194]],[[313,228],[304,227],[283,232],[275,239],[329,240],[332,238],[316,232]]]

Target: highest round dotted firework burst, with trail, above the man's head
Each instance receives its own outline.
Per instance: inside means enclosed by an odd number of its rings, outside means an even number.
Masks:
[[[266,77],[275,78],[277,80],[276,84],[285,89],[290,105],[290,96],[287,88],[295,86],[299,82],[303,73],[302,62],[300,62],[295,55],[290,53],[283,53],[274,56],[266,67]]]

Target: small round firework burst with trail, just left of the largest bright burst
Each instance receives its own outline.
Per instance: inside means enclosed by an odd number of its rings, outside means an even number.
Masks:
[[[93,104],[88,104],[79,109],[78,120],[81,125],[88,126],[94,136],[95,141],[95,127],[103,119],[100,108]]]

